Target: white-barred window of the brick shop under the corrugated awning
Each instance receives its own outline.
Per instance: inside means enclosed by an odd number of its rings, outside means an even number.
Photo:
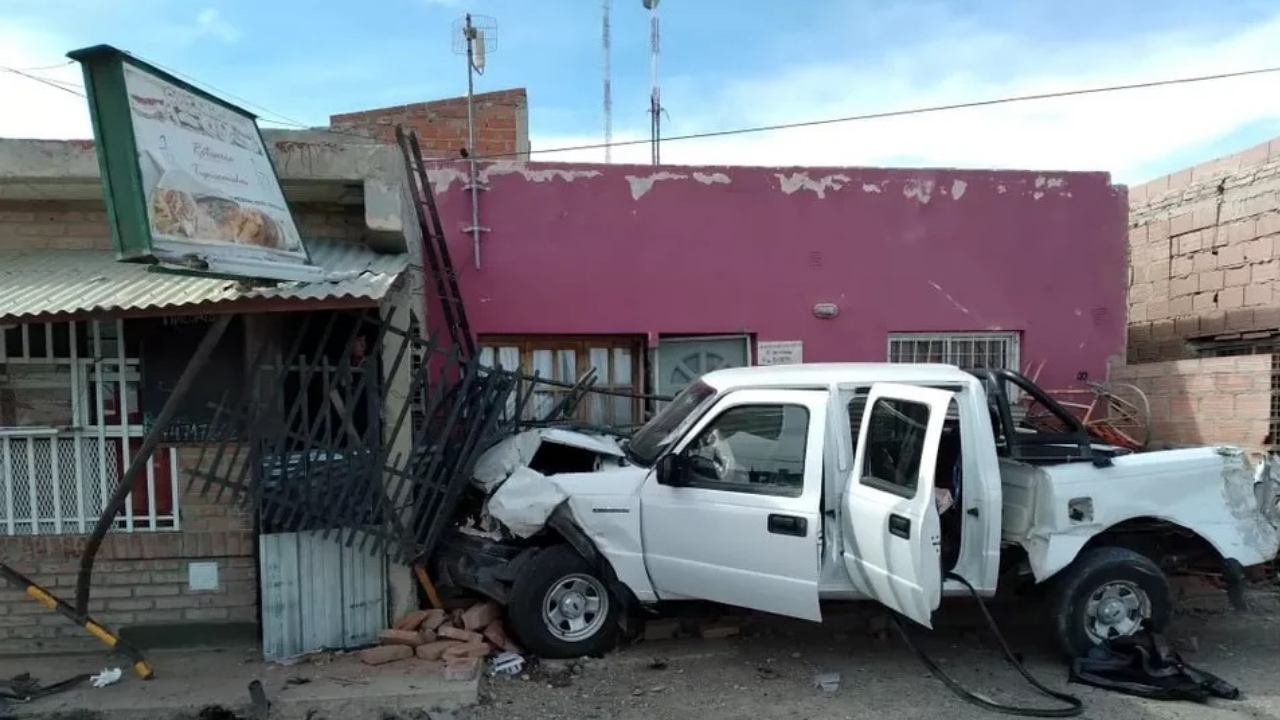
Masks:
[[[0,325],[0,536],[92,530],[146,434],[122,320]],[[118,532],[178,529],[178,457],[156,451]]]

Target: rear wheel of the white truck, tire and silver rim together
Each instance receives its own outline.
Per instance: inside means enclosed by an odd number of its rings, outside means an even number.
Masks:
[[[1064,570],[1052,598],[1057,641],[1070,657],[1132,635],[1148,620],[1153,630],[1164,632],[1171,615],[1169,578],[1147,556],[1123,547],[1082,553]]]

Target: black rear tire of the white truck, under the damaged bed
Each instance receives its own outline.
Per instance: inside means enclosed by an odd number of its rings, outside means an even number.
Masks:
[[[1101,643],[1101,633],[1091,633],[1089,601],[1111,585],[1119,596],[1138,602],[1138,615],[1151,620],[1156,632],[1164,632],[1172,615],[1172,591],[1169,578],[1144,555],[1123,547],[1097,547],[1083,552],[1062,571],[1051,596],[1050,618],[1059,646],[1068,657],[1082,657]],[[1125,587],[1126,585],[1126,587]],[[1140,592],[1134,592],[1140,591]],[[1143,601],[1144,600],[1144,601]],[[1111,637],[1132,634],[1130,621],[1112,625]]]

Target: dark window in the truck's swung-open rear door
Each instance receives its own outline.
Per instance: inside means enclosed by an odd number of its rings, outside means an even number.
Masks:
[[[868,416],[861,483],[901,497],[915,497],[929,406],[882,397]]]

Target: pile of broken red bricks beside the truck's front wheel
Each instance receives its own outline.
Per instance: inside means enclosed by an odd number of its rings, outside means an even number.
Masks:
[[[502,624],[502,607],[489,601],[454,610],[416,610],[378,639],[378,647],[360,653],[366,665],[416,657],[449,680],[475,679],[494,652],[521,652]]]

